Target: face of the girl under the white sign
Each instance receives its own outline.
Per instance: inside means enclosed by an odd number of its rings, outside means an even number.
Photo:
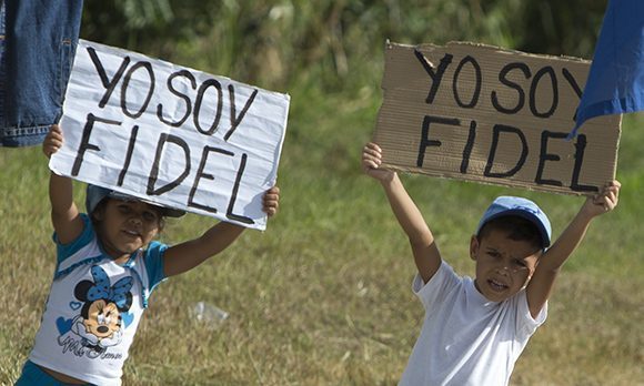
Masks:
[[[140,201],[108,199],[102,211],[95,211],[98,235],[103,250],[114,260],[129,256],[148,245],[159,234],[161,214]]]

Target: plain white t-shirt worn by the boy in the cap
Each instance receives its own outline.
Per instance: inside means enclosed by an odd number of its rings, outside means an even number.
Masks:
[[[507,385],[530,337],[545,322],[547,304],[536,318],[525,288],[503,302],[486,299],[471,277],[457,276],[443,262],[423,285],[412,290],[425,317],[399,385]]]

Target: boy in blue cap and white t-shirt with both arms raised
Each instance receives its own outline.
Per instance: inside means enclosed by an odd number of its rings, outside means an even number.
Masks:
[[[470,241],[470,256],[476,262],[472,280],[457,276],[442,260],[398,174],[380,169],[381,162],[380,146],[368,143],[362,166],[382,184],[410,238],[419,271],[413,291],[425,308],[400,385],[507,385],[527,339],[545,322],[561,266],[591,221],[617,205],[620,183],[613,181],[588,197],[552,246],[550,222],[536,204],[496,199]]]

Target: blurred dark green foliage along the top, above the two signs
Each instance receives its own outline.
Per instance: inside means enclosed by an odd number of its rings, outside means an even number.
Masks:
[[[270,89],[380,80],[384,43],[469,40],[590,58],[605,0],[85,2],[82,35]]]

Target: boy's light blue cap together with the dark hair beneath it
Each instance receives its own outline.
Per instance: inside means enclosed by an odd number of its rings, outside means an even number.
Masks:
[[[550,220],[527,199],[500,196],[494,200],[479,222],[476,236],[484,236],[492,228],[504,231],[511,240],[527,241],[541,248],[550,246]]]

